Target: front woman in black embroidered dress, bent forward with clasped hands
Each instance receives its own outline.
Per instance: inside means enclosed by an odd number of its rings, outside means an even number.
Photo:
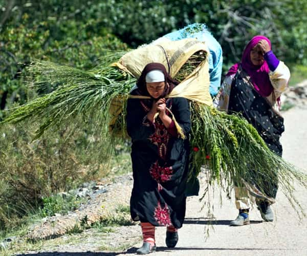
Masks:
[[[189,103],[185,98],[165,98],[178,83],[161,63],[149,63],[137,81],[137,89],[131,91],[133,98],[127,102],[134,177],[130,213],[134,221],[141,222],[143,233],[143,246],[138,254],[156,249],[155,226],[166,226],[166,245],[176,246],[177,229],[185,217]],[[179,136],[178,129],[183,136]]]

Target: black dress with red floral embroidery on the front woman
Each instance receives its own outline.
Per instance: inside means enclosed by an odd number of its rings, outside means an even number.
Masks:
[[[187,137],[185,140],[171,135],[159,117],[155,123],[147,119],[151,104],[151,100],[142,99],[128,99],[127,103],[127,132],[132,140],[134,177],[131,218],[154,226],[180,228],[186,209],[184,191],[189,159],[189,103],[185,98],[166,100],[167,108]],[[166,114],[170,116],[168,111]]]

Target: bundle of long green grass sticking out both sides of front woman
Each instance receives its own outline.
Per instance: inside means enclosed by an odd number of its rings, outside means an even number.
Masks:
[[[102,136],[108,133],[114,140],[118,136],[125,138],[125,106],[136,78],[110,66],[123,54],[109,54],[96,70],[88,72],[50,62],[35,62],[29,68],[34,76],[33,88],[51,92],[18,107],[4,122],[37,118],[41,120],[37,138],[51,126],[73,122],[78,115],[91,116]],[[192,55],[175,78],[184,79],[205,56],[202,52]],[[118,108],[110,113],[112,104]],[[260,190],[267,180],[278,177],[284,194],[302,212],[293,195],[293,181],[307,187],[307,176],[272,153],[244,118],[191,102],[191,121],[190,145],[195,148],[191,152],[191,168],[195,170],[192,175],[198,175],[201,166],[207,164],[210,184],[223,183],[231,189],[233,182],[246,181]],[[255,171],[248,172],[249,169]]]

